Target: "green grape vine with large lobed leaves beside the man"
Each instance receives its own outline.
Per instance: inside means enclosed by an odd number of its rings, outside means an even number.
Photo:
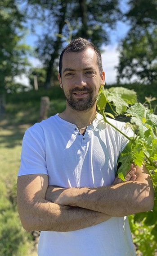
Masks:
[[[134,90],[123,87],[100,88],[97,97],[98,111],[103,115],[106,123],[113,126],[109,118],[116,119],[123,115],[129,118],[126,126],[130,126],[134,135],[129,138],[118,130],[128,140],[126,148],[121,152],[117,162],[117,175],[125,180],[130,163],[147,167],[152,177],[155,203],[151,212],[130,215],[130,228],[133,240],[142,255],[155,256],[157,253],[157,115],[156,107],[152,108],[155,97],[145,97],[144,104],[137,102]],[[109,111],[107,112],[107,109]]]

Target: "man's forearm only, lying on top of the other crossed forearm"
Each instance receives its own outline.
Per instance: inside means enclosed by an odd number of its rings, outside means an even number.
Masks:
[[[133,182],[98,188],[71,188],[63,191],[63,201],[66,205],[121,217],[150,210],[149,205],[144,204],[143,196],[140,195],[141,189],[145,187],[140,187],[138,190],[137,184]],[[56,202],[60,203],[61,200],[56,200]]]

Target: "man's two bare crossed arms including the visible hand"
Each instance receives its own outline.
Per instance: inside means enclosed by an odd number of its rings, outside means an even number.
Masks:
[[[135,174],[136,172],[136,174]],[[67,232],[153,208],[152,181],[145,167],[131,167],[126,182],[111,186],[59,188],[45,174],[18,177],[18,212],[26,230]]]

